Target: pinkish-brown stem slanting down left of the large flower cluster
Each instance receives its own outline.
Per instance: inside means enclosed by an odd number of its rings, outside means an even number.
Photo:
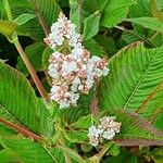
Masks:
[[[27,70],[29,71],[29,73],[30,73],[30,75],[32,75],[32,78],[34,79],[34,83],[35,83],[35,85],[36,85],[38,91],[40,92],[40,96],[41,96],[43,99],[48,100],[48,93],[47,93],[46,89],[43,88],[41,82],[39,80],[39,78],[38,78],[38,76],[37,76],[35,70],[33,68],[33,66],[32,66],[32,64],[30,64],[28,58],[26,57],[26,54],[25,54],[25,52],[24,52],[24,50],[23,50],[23,48],[22,48],[22,46],[20,45],[20,42],[18,42],[17,39],[14,41],[14,45],[15,45],[15,47],[16,47],[16,49],[17,49],[17,51],[18,51],[21,58],[22,58],[22,60],[24,61],[24,63],[25,63]]]

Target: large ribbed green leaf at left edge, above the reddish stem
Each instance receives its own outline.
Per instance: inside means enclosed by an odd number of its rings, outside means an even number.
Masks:
[[[39,104],[28,80],[2,62],[0,62],[0,103],[9,115],[8,117],[12,116],[22,125],[38,133],[39,120],[36,116],[36,111]]]

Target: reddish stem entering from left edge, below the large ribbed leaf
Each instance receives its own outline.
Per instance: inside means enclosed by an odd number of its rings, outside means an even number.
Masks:
[[[43,142],[43,138],[38,136],[38,135],[35,135],[34,133],[29,131],[28,129],[22,127],[22,126],[16,126],[8,121],[5,121],[4,118],[0,117],[0,123],[7,125],[8,127],[23,134],[24,136],[27,136],[27,137],[30,137],[39,142]]]

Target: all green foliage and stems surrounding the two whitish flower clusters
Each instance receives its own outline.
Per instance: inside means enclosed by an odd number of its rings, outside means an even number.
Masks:
[[[49,100],[43,42],[61,11],[110,68],[66,110]],[[162,0],[0,0],[0,40],[2,163],[163,161]],[[102,116],[122,126],[95,148],[88,128]]]

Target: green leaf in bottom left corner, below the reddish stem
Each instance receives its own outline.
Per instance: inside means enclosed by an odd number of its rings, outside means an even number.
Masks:
[[[1,138],[0,142],[8,149],[15,158],[24,163],[53,163],[55,159],[50,154],[50,151],[42,145],[34,142],[29,139]]]

